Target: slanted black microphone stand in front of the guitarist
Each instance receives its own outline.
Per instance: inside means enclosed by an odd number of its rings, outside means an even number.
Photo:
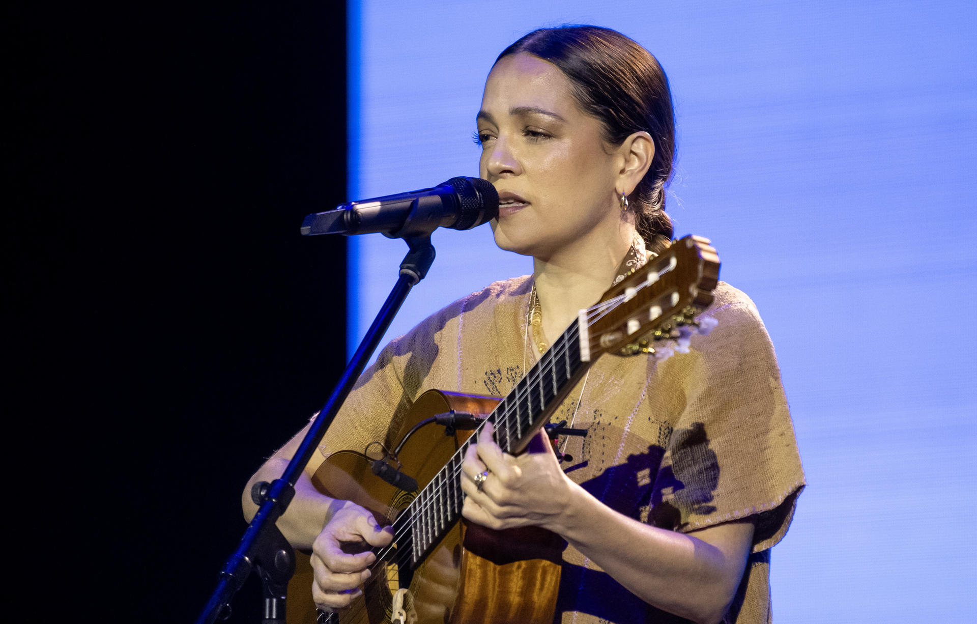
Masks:
[[[416,206],[416,203],[415,203]],[[416,222],[415,222],[416,223]],[[433,229],[433,228],[432,228]],[[390,237],[404,237],[409,250],[401,263],[397,284],[384,302],[383,308],[373,319],[360,348],[346,366],[332,395],[319,410],[319,416],[309,428],[309,433],[288,463],[280,478],[271,483],[256,483],[251,489],[251,499],[259,506],[251,523],[248,524],[234,555],[224,564],[218,576],[217,587],[196,620],[196,624],[213,624],[218,618],[227,619],[231,615],[231,600],[247,579],[252,570],[257,569],[261,577],[264,608],[262,624],[284,624],[285,590],[288,579],[295,572],[295,552],[276,526],[276,520],[288,509],[295,495],[295,483],[305,470],[319,446],[319,440],[332,424],[346,396],[353,390],[366,360],[376,350],[380,339],[401,309],[407,293],[431,269],[435,251],[431,245],[431,231],[424,226],[411,227],[410,219],[399,232],[387,234]]]

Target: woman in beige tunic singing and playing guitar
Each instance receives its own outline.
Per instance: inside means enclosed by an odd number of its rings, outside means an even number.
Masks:
[[[595,26],[531,32],[492,66],[477,124],[481,176],[500,197],[495,241],[531,256],[533,273],[496,282],[393,341],[350,395],[324,452],[384,439],[429,389],[507,394],[577,311],[671,238],[663,212],[671,97],[658,62],[634,41]],[[705,314],[718,328],[692,354],[661,363],[603,357],[591,368],[558,411],[588,430],[568,442],[576,460],[566,472],[546,443],[502,453],[488,427],[465,458],[467,520],[541,526],[568,542],[557,620],[770,619],[769,549],[786,533],[803,474],[763,325],[739,291],[720,283],[714,294]],[[252,482],[280,474],[303,434]],[[368,512],[308,479],[278,526],[313,549],[313,599],[323,608],[349,604],[373,561],[341,543],[392,539]]]

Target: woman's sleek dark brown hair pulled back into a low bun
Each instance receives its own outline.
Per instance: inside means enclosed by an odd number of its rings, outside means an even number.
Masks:
[[[647,248],[660,252],[667,247],[673,230],[664,212],[664,187],[675,160],[675,117],[668,78],[658,60],[616,30],[589,25],[533,30],[495,62],[520,53],[551,62],[570,78],[573,97],[602,123],[610,145],[619,146],[642,130],[652,136],[655,157],[628,201]]]

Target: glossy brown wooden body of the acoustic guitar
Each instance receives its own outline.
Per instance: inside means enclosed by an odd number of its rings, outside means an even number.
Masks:
[[[498,400],[429,391],[418,397],[392,439],[396,445],[421,421],[450,410],[488,416]],[[399,454],[402,472],[415,478],[423,489],[471,433],[456,431],[446,436],[446,429],[440,425],[421,427]],[[415,495],[373,475],[370,463],[354,452],[337,452],[326,458],[313,483],[330,497],[351,500],[369,510],[382,524],[395,520]],[[393,592],[409,577],[412,602],[408,602],[417,624],[548,624],[556,610],[563,547],[558,535],[544,529],[494,531],[456,521],[412,573],[402,573],[394,563],[373,567],[363,596],[330,621],[390,622]],[[316,622],[309,555],[297,552],[296,560],[295,575],[288,584],[286,619],[289,624]]]

